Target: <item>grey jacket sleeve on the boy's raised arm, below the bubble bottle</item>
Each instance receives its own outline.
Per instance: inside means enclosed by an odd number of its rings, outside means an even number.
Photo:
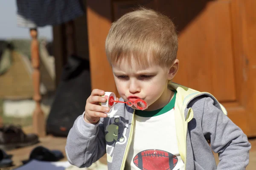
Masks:
[[[70,164],[89,167],[106,153],[103,118],[94,125],[84,121],[84,113],[74,122],[65,147]]]

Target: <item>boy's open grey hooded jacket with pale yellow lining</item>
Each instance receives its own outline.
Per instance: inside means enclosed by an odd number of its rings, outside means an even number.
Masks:
[[[242,130],[224,114],[224,107],[209,93],[175,83],[169,88],[177,91],[175,125],[185,169],[244,170],[251,146]],[[89,167],[107,153],[108,170],[123,170],[134,131],[134,110],[118,103],[96,125],[83,117],[76,119],[67,136],[70,164]],[[212,151],[219,155],[218,167]]]

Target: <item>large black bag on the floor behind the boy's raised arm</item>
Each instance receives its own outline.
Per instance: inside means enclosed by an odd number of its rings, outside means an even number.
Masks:
[[[89,61],[68,57],[47,119],[47,134],[67,136],[76,118],[84,112],[90,94]]]

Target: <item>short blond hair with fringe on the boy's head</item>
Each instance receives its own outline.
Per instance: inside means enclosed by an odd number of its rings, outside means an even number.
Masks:
[[[149,60],[170,66],[176,59],[178,40],[174,23],[163,14],[140,8],[113,22],[105,42],[108,61],[133,59],[140,65]],[[150,58],[148,58],[150,56]]]

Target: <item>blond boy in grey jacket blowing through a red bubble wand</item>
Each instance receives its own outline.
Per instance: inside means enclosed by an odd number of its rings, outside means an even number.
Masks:
[[[224,107],[209,93],[171,82],[177,44],[172,21],[153,10],[112,24],[105,48],[120,101],[143,99],[148,108],[118,103],[110,111],[99,105],[105,92],[94,89],[67,137],[71,164],[89,167],[107,153],[108,170],[245,169],[250,143]]]

